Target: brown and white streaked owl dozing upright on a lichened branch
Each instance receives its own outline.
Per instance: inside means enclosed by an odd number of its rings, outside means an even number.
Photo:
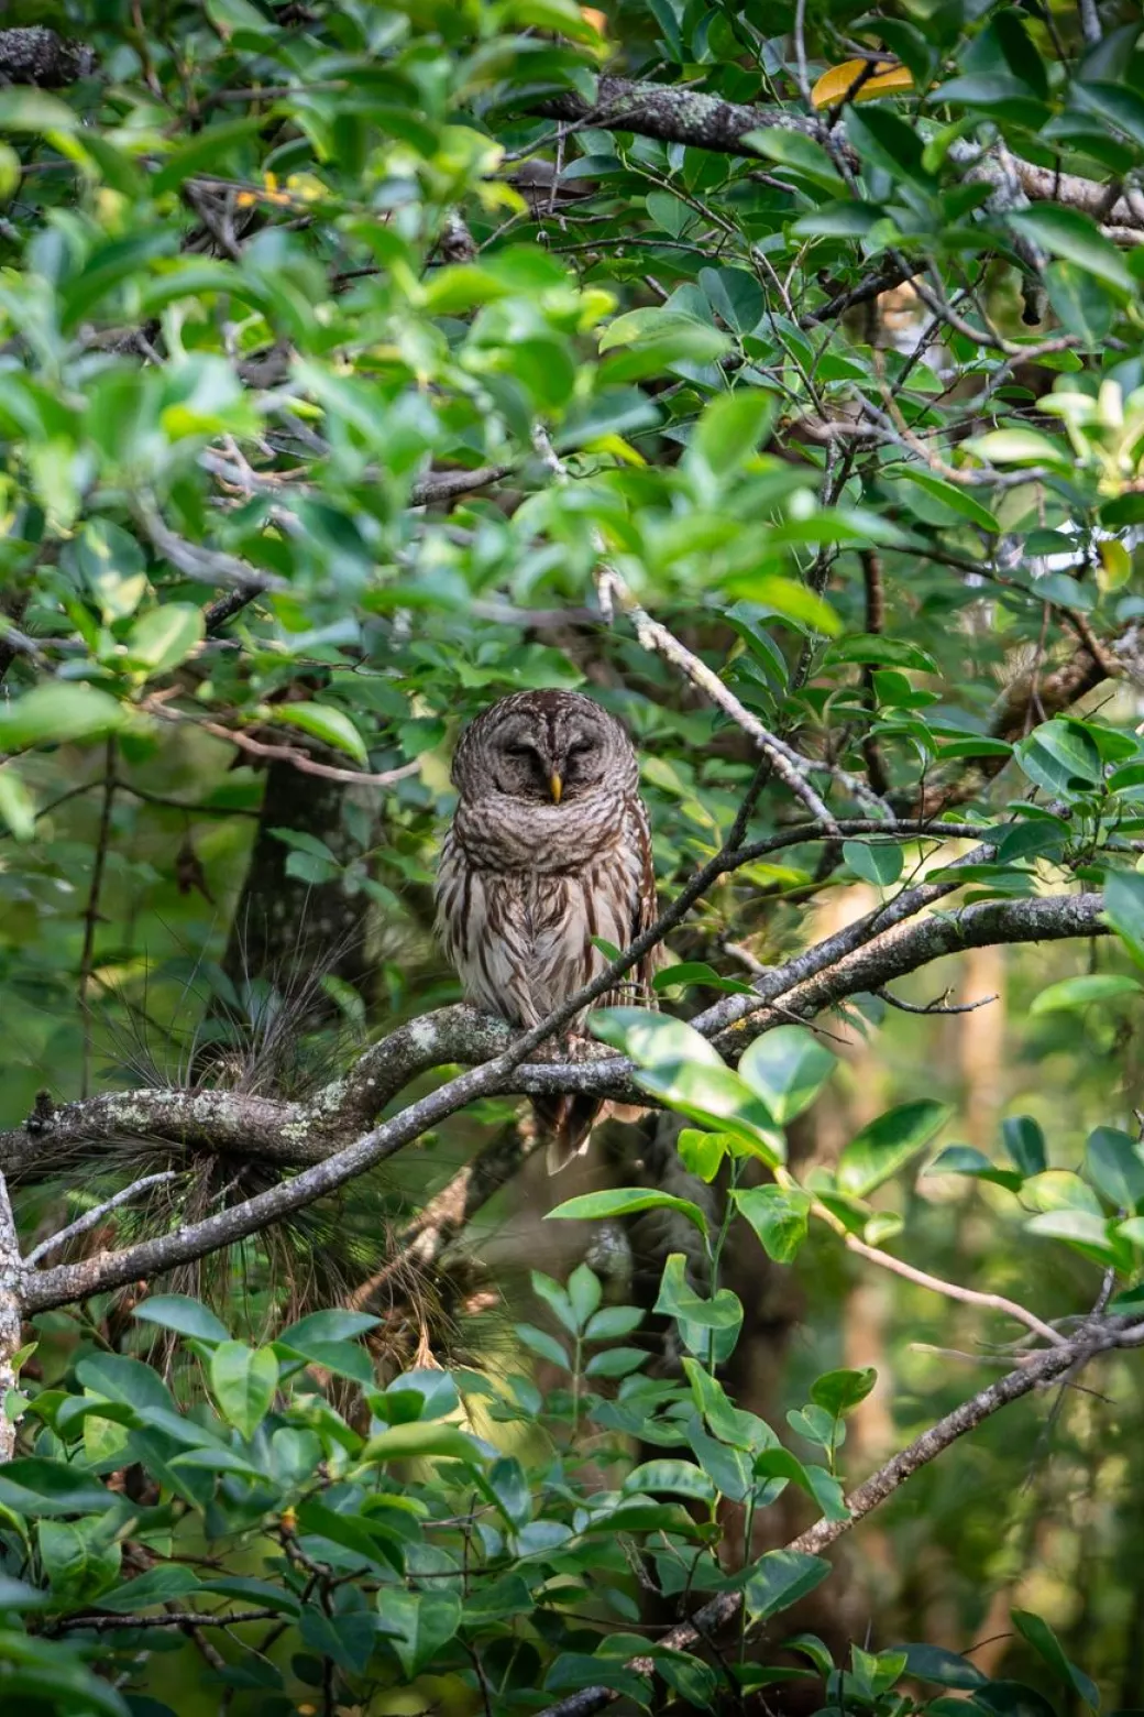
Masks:
[[[580,692],[515,692],[461,733],[437,932],[468,1001],[527,1030],[605,968],[593,937],[626,948],[655,920],[638,783],[624,728]],[[653,963],[631,974],[648,996]],[[597,1006],[631,999],[626,982]],[[561,1095],[535,1109],[556,1169],[587,1147],[600,1104]]]

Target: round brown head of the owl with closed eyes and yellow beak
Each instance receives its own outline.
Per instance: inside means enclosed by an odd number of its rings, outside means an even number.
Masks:
[[[515,692],[461,733],[453,785],[467,798],[506,793],[575,804],[609,785],[635,793],[636,754],[619,721],[580,692]]]

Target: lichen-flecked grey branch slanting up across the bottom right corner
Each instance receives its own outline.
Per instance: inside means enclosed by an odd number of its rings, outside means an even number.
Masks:
[[[1087,1324],[1072,1341],[1051,1348],[1046,1353],[1029,1356],[1005,1377],[998,1377],[988,1389],[981,1389],[969,1401],[962,1401],[952,1413],[940,1418],[930,1430],[923,1430],[906,1449],[892,1456],[885,1466],[871,1473],[864,1483],[846,1497],[849,1514],[846,1520],[820,1520],[808,1532],[799,1533],[784,1549],[799,1550],[804,1556],[822,1556],[844,1533],[851,1532],[866,1514],[873,1514],[887,1497],[892,1497],[899,1485],[906,1483],[916,1471],[943,1454],[959,1437],[976,1430],[978,1425],[1000,1413],[1002,1408],[1019,1401],[1033,1389],[1045,1389],[1048,1384],[1067,1377],[1067,1374],[1086,1365],[1099,1353],[1115,1348],[1137,1348],[1144,1338],[1144,1322],[1139,1319],[1101,1319]],[[705,1645],[713,1635],[732,1623],[743,1609],[741,1592],[720,1592],[703,1604],[691,1621],[681,1623],[665,1633],[657,1645],[672,1652],[691,1652]],[[631,1659],[626,1665],[641,1676],[655,1674],[655,1660],[650,1657]],[[537,1717],[592,1717],[604,1710],[616,1695],[611,1688],[578,1688],[556,1705],[545,1705]]]

